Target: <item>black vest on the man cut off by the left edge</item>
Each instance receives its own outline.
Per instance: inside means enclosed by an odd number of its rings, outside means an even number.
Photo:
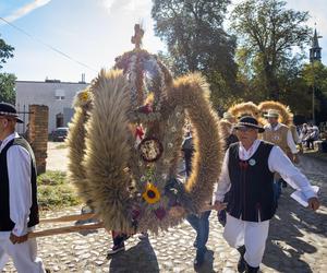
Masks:
[[[27,226],[32,227],[39,223],[38,205],[37,205],[37,190],[36,190],[36,166],[34,153],[26,140],[16,138],[10,141],[0,153],[0,232],[11,232],[15,225],[10,218],[10,201],[9,201],[9,178],[7,165],[7,151],[12,145],[20,145],[26,149],[31,155],[31,185],[32,185],[32,206],[29,212],[29,221]],[[21,168],[21,166],[15,166]],[[11,189],[14,190],[14,189]]]

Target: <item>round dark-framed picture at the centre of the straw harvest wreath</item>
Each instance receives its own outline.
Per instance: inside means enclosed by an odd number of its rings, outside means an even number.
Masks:
[[[155,162],[162,154],[162,144],[155,138],[146,138],[138,144],[141,157],[145,162]]]

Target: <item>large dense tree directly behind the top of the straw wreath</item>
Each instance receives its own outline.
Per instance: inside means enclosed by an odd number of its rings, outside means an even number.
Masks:
[[[155,33],[168,45],[177,75],[201,71],[211,87],[214,105],[235,92],[235,37],[222,22],[230,0],[154,0]]]

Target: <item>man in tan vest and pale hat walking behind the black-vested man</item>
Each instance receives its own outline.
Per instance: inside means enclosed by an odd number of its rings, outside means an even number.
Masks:
[[[279,112],[270,109],[265,117],[268,119],[268,124],[265,126],[263,140],[278,145],[293,163],[299,163],[299,151],[296,149],[292,132],[289,127],[278,122]],[[279,199],[281,193],[281,185],[287,187],[287,183],[278,174],[275,176],[275,183],[276,198]]]

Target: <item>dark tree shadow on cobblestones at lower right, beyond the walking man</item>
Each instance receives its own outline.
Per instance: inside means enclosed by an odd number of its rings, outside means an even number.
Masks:
[[[320,166],[312,168],[312,162],[303,158],[302,168],[311,174],[308,178],[312,185],[320,187],[319,200],[323,206],[327,205],[327,185],[322,181],[325,180],[324,174],[320,173]],[[306,166],[307,165],[307,166]],[[326,167],[326,165],[325,165]],[[310,169],[312,168],[312,169]],[[305,262],[301,256],[314,253],[318,251],[311,240],[303,239],[303,232],[318,234],[320,237],[327,237],[326,224],[327,215],[319,211],[313,212],[303,207],[298,202],[290,198],[294,190],[290,187],[283,189],[283,193],[279,200],[279,207],[276,216],[270,222],[269,237],[267,240],[266,253],[263,263],[276,271],[283,272],[287,266],[292,266],[292,272],[311,273],[313,272],[311,265],[314,265],[314,259],[306,258]],[[283,223],[288,223],[286,226]],[[284,241],[287,248],[281,247],[279,241]],[[324,247],[324,246],[322,246]]]

